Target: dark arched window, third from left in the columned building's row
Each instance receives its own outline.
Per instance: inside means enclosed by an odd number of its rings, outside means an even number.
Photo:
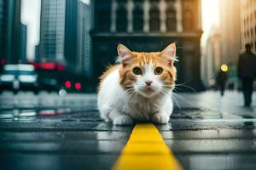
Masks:
[[[133,9],[133,31],[143,31],[143,9],[134,8]]]

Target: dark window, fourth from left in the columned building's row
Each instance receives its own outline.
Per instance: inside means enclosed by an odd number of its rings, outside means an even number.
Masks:
[[[149,29],[150,31],[160,31],[159,8],[151,8],[149,10]]]

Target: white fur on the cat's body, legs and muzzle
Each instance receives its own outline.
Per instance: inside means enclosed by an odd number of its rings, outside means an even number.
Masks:
[[[166,123],[173,110],[172,90],[163,93],[159,76],[154,75],[153,65],[145,65],[143,75],[137,76],[132,95],[119,84],[119,68],[111,72],[101,84],[98,93],[98,109],[106,122],[130,125],[134,122]],[[145,82],[151,81],[151,90]]]

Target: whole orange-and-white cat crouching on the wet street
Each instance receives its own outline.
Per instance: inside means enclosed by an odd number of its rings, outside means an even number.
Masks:
[[[173,110],[172,90],[177,77],[176,44],[161,52],[131,52],[117,47],[117,64],[100,77],[98,109],[106,122],[169,122]]]

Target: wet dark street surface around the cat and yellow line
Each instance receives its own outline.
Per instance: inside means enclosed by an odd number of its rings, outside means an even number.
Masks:
[[[237,92],[174,97],[171,121],[156,127],[183,169],[256,168],[255,94],[249,109]],[[4,93],[0,111],[3,169],[111,169],[134,128],[103,122],[95,94]]]

